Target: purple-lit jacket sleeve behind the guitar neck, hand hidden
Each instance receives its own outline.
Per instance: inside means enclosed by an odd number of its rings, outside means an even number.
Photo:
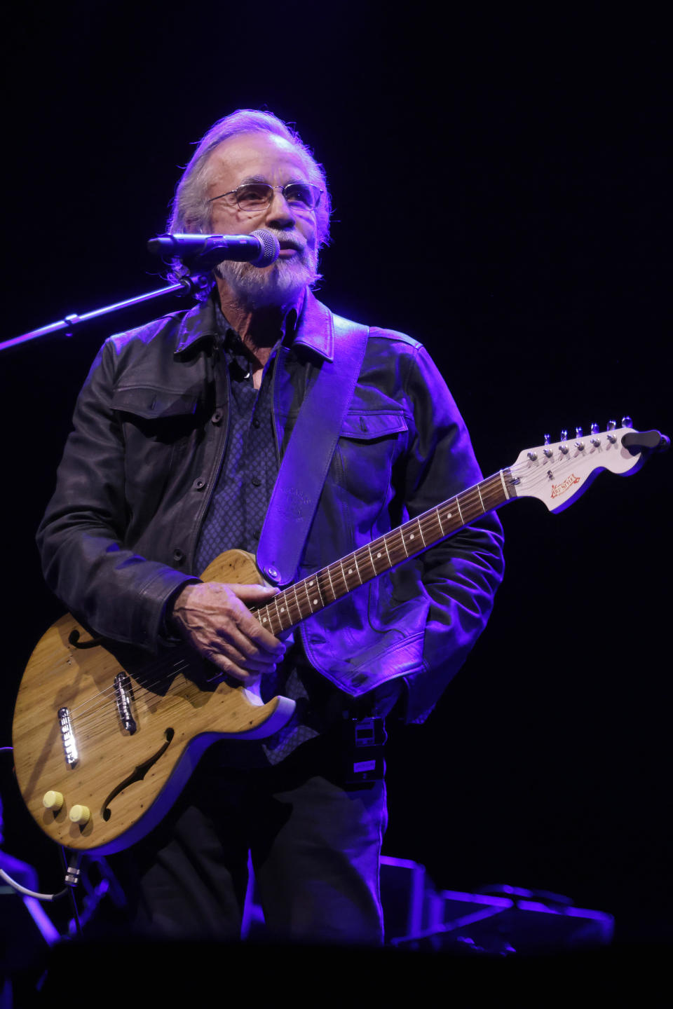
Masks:
[[[415,518],[474,485],[482,474],[456,404],[423,347],[410,359],[406,393],[414,429],[401,479],[407,511]],[[399,569],[396,594],[409,591],[427,605],[425,671],[406,677],[407,720],[425,720],[465,662],[486,626],[503,567],[502,527],[490,512],[420,555],[409,571]]]

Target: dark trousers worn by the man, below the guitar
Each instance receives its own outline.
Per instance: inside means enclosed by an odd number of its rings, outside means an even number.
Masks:
[[[131,928],[238,939],[249,851],[272,939],[380,944],[384,782],[342,785],[329,736],[275,767],[223,767],[231,746],[211,747],[159,826],[110,858]]]

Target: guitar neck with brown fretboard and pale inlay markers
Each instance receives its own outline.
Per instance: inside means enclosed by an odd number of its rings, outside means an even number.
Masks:
[[[267,605],[254,610],[254,615],[274,635],[289,631],[358,585],[417,557],[486,512],[504,504],[516,496],[508,490],[511,482],[510,470],[499,470],[354,553],[295,582],[274,595]]]

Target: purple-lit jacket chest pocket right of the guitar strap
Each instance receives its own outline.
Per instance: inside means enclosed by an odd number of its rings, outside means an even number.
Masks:
[[[402,413],[349,414],[337,446],[339,482],[358,501],[380,504],[389,496],[390,471],[407,447]]]

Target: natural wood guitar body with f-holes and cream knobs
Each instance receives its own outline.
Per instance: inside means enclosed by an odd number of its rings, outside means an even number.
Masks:
[[[263,581],[254,558],[241,550],[216,558],[203,580]],[[165,814],[211,743],[270,736],[294,710],[285,697],[262,705],[242,685],[209,683],[216,668],[187,646],[167,650],[159,666],[146,653],[90,643],[70,614],[50,627],[30,657],[14,711],[22,797],[36,823],[67,848],[110,854],[134,844]],[[115,690],[124,672],[126,687]],[[132,731],[124,727],[120,694]],[[77,748],[70,765],[69,741]],[[60,809],[44,807],[48,792],[63,795]],[[78,805],[89,809],[86,823],[70,818]]]

